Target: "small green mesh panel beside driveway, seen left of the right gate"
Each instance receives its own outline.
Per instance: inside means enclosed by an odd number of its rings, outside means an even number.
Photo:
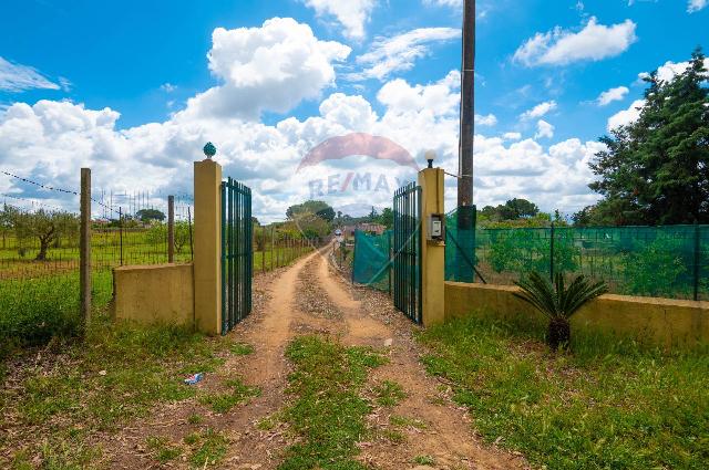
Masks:
[[[389,253],[392,232],[381,236],[354,232],[354,260],[352,281],[384,292],[391,290]]]

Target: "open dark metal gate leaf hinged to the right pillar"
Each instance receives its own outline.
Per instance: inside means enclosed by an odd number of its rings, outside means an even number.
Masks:
[[[393,255],[394,305],[421,323],[421,187],[414,182],[394,192]]]

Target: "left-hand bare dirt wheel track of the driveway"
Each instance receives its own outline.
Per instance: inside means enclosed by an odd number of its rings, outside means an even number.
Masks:
[[[195,399],[160,405],[143,422],[126,427],[117,436],[100,437],[106,466],[113,469],[161,468],[146,449],[148,437],[166,437],[182,442],[185,436],[212,428],[229,439],[228,453],[218,468],[275,469],[288,446],[282,428],[259,429],[259,422],[284,407],[287,363],[284,349],[292,335],[291,323],[300,316],[295,291],[301,269],[317,252],[294,265],[261,274],[254,283],[254,312],[227,336],[254,346],[247,356],[228,355],[218,370],[207,374],[199,388],[218,388],[222,380],[239,376],[247,385],[260,388],[260,396],[218,415]],[[191,424],[191,416],[202,422]],[[186,461],[172,461],[169,468],[189,468]]]

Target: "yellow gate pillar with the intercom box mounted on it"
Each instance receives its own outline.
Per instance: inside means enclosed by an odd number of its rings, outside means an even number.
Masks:
[[[441,168],[419,171],[421,187],[421,310],[424,326],[445,320],[445,238],[430,240],[431,216],[440,216],[445,227],[444,174]],[[444,232],[443,232],[444,233]]]

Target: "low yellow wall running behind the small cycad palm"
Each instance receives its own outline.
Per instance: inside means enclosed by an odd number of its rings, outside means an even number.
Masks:
[[[507,285],[445,283],[445,318],[465,315],[499,315],[512,318],[538,312],[513,295]],[[603,295],[579,310],[575,328],[640,337],[669,346],[709,343],[709,302]],[[573,334],[573,333],[572,333]]]

